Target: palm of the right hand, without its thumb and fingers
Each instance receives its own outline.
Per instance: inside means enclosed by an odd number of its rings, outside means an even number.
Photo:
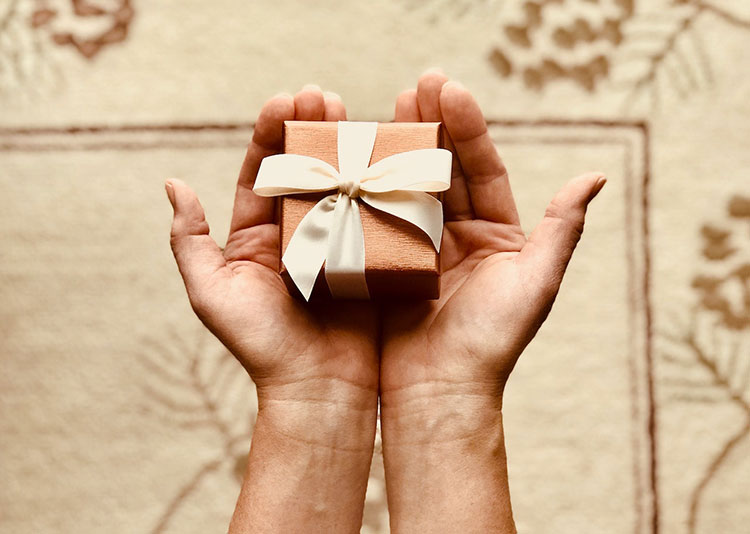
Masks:
[[[429,303],[427,310],[401,304],[385,314],[384,390],[486,379],[481,376],[484,366],[466,365],[472,360],[492,364],[500,376],[510,372],[513,349],[525,344],[513,333],[533,335],[528,329],[517,329],[519,319],[543,314],[523,294],[525,273],[516,258],[525,241],[515,225],[478,220],[446,223],[441,298]],[[411,328],[402,329],[405,324]],[[505,346],[499,347],[497,341]],[[417,357],[404,358],[404,354]]]

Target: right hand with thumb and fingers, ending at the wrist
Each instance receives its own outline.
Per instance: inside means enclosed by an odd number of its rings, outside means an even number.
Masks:
[[[576,204],[590,199],[599,179],[572,182],[527,240],[479,108],[465,89],[445,82],[438,73],[423,76],[396,108],[396,120],[442,121],[457,157],[444,203],[441,297],[385,310],[383,392],[457,384],[502,389],[554,300],[576,241],[566,236],[580,233]]]

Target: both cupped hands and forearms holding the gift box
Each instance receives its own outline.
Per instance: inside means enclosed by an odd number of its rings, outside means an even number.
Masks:
[[[454,151],[442,297],[304,304],[278,275],[274,201],[252,186],[261,159],[281,150],[284,120],[344,118],[340,100],[316,86],[264,106],[223,251],[195,193],[167,183],[190,302],[258,389],[229,532],[358,532],[378,392],[392,531],[514,532],[503,390],[552,306],[604,179],[571,181],[527,238],[473,97],[441,72],[426,73],[398,98],[396,120],[443,121]]]

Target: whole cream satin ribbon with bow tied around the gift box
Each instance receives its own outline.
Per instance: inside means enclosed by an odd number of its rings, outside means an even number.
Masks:
[[[338,123],[339,170],[298,154],[276,154],[261,162],[253,187],[259,196],[336,190],[303,217],[281,258],[305,300],[324,262],[334,298],[369,298],[359,200],[417,226],[440,251],[443,207],[428,193],[450,187],[450,151],[411,150],[369,165],[377,130],[376,122]]]

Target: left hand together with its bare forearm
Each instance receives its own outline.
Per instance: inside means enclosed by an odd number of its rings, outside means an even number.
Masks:
[[[278,274],[274,200],[252,191],[261,160],[282,149],[283,121],[294,119],[345,120],[346,111],[336,95],[317,86],[265,104],[240,171],[224,250],[209,237],[195,193],[179,180],[166,184],[174,208],[172,250],[190,303],[258,390],[252,476],[230,532],[261,532],[264,525],[273,532],[327,531],[331,525],[358,531],[372,455],[375,310],[368,302],[304,304],[292,298]],[[293,512],[284,502],[290,496]]]

